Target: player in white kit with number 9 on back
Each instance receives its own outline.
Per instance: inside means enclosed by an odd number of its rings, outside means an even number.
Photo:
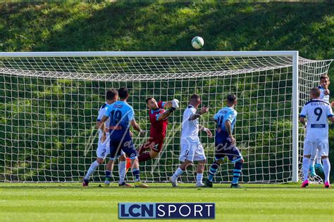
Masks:
[[[334,123],[333,110],[329,103],[320,100],[320,90],[313,88],[310,91],[311,100],[306,103],[300,112],[299,122],[307,126],[307,133],[304,139],[304,153],[302,171],[304,181],[302,188],[309,185],[309,160],[314,158],[316,152],[320,152],[323,161],[323,171],[325,173],[325,188],[329,188],[330,162],[328,159],[328,121]],[[305,122],[307,118],[307,123]]]

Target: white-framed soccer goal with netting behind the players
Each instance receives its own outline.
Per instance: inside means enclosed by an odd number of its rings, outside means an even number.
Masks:
[[[0,181],[81,181],[96,158],[94,125],[105,92],[120,86],[130,89],[128,103],[142,129],[149,129],[148,96],[180,100],[163,151],[141,164],[143,181],[167,181],[178,167],[182,114],[192,93],[209,105],[199,122],[211,131],[225,96],[237,95],[234,133],[245,158],[240,181],[298,181],[304,133],[298,113],[330,63],[300,58],[298,51],[0,53]],[[200,138],[207,169],[214,138]],[[145,140],[135,133],[137,147]],[[232,169],[222,164],[215,182],[230,181]],[[193,172],[181,180],[194,181]],[[102,176],[104,166],[92,179]]]

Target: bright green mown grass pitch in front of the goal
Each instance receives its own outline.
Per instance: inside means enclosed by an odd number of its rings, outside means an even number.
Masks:
[[[322,185],[301,189],[299,184],[246,184],[240,190],[228,184],[211,189],[149,185],[143,189],[116,184],[100,188],[99,183],[89,188],[80,183],[1,183],[0,221],[117,221],[118,202],[215,202],[216,221],[333,221],[334,190]]]

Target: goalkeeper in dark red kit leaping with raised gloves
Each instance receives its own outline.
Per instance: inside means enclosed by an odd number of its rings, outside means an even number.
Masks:
[[[159,102],[152,97],[147,98],[146,104],[149,108],[149,120],[151,121],[151,128],[149,133],[149,140],[142,145],[138,150],[139,162],[144,162],[149,159],[154,159],[162,150],[163,139],[166,137],[166,130],[168,125],[168,117],[178,108],[178,100],[173,99],[170,102]],[[164,108],[167,108],[166,110]],[[147,150],[149,150],[147,152]]]

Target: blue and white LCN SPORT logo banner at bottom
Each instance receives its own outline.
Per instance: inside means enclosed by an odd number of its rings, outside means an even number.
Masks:
[[[214,203],[119,203],[120,219],[168,219],[197,218],[214,219],[216,207]]]

